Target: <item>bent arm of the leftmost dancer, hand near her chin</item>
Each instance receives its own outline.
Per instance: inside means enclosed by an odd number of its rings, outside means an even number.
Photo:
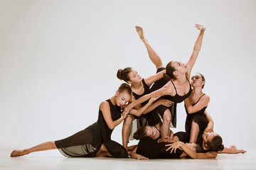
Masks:
[[[122,114],[121,118],[113,121],[112,118],[111,118],[111,113],[110,113],[110,104],[107,103],[107,101],[102,101],[102,103],[100,103],[100,111],[102,111],[102,115],[104,117],[104,120],[107,123],[108,128],[110,128],[112,130],[117,125],[122,123],[122,120],[124,120],[124,118],[126,118],[127,114],[128,114],[128,113],[124,113],[124,114]]]

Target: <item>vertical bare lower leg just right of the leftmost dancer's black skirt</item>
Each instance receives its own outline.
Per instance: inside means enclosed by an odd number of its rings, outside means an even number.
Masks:
[[[129,135],[131,133],[132,120],[134,120],[133,116],[127,115],[122,126],[122,145],[125,149],[127,149]]]

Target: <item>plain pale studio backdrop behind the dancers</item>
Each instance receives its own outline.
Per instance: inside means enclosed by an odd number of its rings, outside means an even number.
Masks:
[[[187,62],[206,26],[193,72],[206,77],[207,111],[226,146],[256,137],[256,1],[0,1],[0,146],[59,140],[97,121],[123,82],[117,69],[156,72],[135,26],[161,56]],[[177,128],[186,113],[178,105]],[[122,124],[112,139],[122,143]]]

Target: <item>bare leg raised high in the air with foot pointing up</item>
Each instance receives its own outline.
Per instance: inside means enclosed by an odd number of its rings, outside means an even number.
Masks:
[[[159,69],[159,67],[163,67],[163,62],[161,61],[161,57],[157,55],[153,47],[151,47],[151,45],[149,44],[148,40],[146,40],[146,38],[144,37],[143,28],[136,26],[136,30],[139,35],[139,38],[142,40],[142,42],[144,42],[144,45],[146,45],[146,50],[149,53],[149,58],[151,62],[153,62],[154,65],[156,66],[156,70]]]

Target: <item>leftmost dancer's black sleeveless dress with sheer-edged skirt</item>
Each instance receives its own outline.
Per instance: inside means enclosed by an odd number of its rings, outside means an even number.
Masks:
[[[119,119],[121,117],[121,108],[114,106],[110,99],[107,100],[107,103],[110,105],[112,120]],[[127,150],[119,143],[111,140],[112,131],[108,128],[102,111],[99,109],[96,123],[85,128],[85,130],[75,133],[75,135],[55,141],[55,145],[60,153],[66,157],[96,157],[103,143],[113,157],[128,157]]]

